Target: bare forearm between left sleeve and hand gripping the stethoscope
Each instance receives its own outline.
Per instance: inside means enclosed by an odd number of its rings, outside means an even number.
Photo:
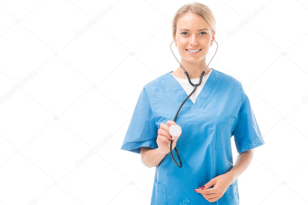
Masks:
[[[151,149],[149,147],[141,147],[141,162],[147,167],[156,167],[164,159],[167,153],[160,151],[160,148]]]

